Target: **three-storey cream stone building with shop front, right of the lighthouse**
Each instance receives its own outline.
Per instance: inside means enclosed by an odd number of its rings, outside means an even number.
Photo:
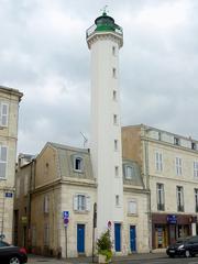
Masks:
[[[197,233],[198,142],[147,125],[122,128],[123,157],[141,167],[150,191],[150,246]]]

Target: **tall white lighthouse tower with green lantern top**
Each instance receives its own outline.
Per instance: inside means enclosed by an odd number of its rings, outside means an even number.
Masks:
[[[122,147],[120,124],[119,50],[122,29],[103,11],[87,30],[91,53],[90,153],[97,178],[98,235],[111,226],[112,238],[121,238],[123,221]],[[118,238],[116,238],[116,235]],[[116,244],[116,251],[121,251]]]

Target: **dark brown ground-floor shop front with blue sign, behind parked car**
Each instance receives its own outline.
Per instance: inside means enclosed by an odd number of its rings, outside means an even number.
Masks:
[[[164,249],[178,238],[191,235],[196,221],[191,215],[152,213],[152,248]]]

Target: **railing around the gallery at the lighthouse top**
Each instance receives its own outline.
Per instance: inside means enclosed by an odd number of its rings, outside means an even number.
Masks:
[[[121,36],[123,35],[123,30],[118,24],[113,24],[113,25],[112,24],[101,24],[101,25],[94,24],[86,31],[86,37],[89,37],[94,32],[103,32],[103,31],[116,32]]]

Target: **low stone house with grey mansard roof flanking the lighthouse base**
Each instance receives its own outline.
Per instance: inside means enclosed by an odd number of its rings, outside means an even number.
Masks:
[[[20,234],[18,235],[18,243],[24,245],[24,227],[31,221],[29,249],[32,252],[63,257],[80,254],[90,256],[92,241],[96,242],[97,239],[97,228],[94,229],[94,205],[98,201],[97,179],[94,177],[89,150],[48,142],[35,157],[34,165],[31,164],[18,170],[16,180],[19,178],[22,180],[20,185],[18,184],[21,191],[15,204],[15,210],[20,205],[22,211],[18,212],[21,224],[18,222],[16,230],[22,233],[21,241]],[[31,173],[31,166],[34,167],[34,173]],[[148,194],[138,163],[124,160],[122,166],[124,205],[122,226],[127,232],[121,246],[125,254],[147,252]],[[29,206],[24,206],[26,199],[23,195],[24,175],[29,175],[29,178],[33,175]],[[30,216],[28,208],[31,208]],[[64,226],[64,211],[69,215],[67,228]],[[22,222],[24,217],[26,224]]]

